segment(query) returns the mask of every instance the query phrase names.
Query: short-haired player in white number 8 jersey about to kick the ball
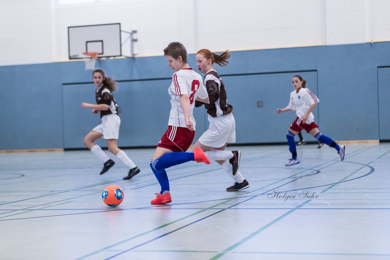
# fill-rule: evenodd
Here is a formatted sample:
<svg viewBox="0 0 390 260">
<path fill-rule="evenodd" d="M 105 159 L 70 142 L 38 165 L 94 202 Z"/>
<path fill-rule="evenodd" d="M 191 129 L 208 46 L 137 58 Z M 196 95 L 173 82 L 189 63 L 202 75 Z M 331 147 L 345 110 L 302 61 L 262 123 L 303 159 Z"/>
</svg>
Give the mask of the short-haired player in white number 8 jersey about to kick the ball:
<svg viewBox="0 0 390 260">
<path fill-rule="evenodd" d="M 210 164 L 202 149 L 185 152 L 195 135 L 195 119 L 192 115 L 195 100 L 209 103 L 207 91 L 202 84 L 202 76 L 193 71 L 187 63 L 187 50 L 180 42 L 171 42 L 164 49 L 168 66 L 174 71 L 168 88 L 171 97 L 168 129 L 161 137 L 151 160 L 150 167 L 156 176 L 161 191 L 156 193 L 152 204 L 172 202 L 166 168 L 188 161 Z"/>
</svg>

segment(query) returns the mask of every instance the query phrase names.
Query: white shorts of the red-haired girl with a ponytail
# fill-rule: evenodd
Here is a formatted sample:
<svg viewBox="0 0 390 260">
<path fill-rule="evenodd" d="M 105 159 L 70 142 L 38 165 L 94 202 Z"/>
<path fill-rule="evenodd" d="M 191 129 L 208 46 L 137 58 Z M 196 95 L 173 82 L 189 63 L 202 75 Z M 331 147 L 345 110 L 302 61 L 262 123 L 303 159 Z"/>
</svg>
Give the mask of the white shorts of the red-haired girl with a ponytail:
<svg viewBox="0 0 390 260">
<path fill-rule="evenodd" d="M 232 113 L 219 115 L 218 117 L 208 117 L 210 126 L 200 136 L 199 141 L 208 147 L 220 148 L 225 143 L 236 142 L 236 121 Z"/>
</svg>

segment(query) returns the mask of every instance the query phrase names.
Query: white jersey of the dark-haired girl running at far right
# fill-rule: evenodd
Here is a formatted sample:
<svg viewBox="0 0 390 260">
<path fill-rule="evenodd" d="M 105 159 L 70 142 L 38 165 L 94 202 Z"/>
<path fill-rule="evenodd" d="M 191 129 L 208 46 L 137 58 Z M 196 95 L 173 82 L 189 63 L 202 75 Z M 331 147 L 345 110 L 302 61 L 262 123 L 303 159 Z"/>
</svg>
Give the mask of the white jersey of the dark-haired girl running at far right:
<svg viewBox="0 0 390 260">
<path fill-rule="evenodd" d="M 306 114 L 311 104 L 316 104 L 319 102 L 319 99 L 314 95 L 308 88 L 300 88 L 298 93 L 296 90 L 290 94 L 290 103 L 287 108 L 296 111 L 296 116 L 300 119 Z M 307 117 L 306 124 L 311 124 L 314 122 L 314 115 L 310 112 Z"/>
</svg>

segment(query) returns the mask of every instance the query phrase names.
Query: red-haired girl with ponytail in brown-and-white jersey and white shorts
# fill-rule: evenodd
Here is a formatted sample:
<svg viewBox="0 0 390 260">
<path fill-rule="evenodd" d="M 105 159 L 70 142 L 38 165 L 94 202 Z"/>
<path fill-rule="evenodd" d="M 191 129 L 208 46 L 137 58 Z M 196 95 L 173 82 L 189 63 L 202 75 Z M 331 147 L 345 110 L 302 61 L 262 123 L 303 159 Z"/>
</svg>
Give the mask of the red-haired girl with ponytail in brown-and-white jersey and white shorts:
<svg viewBox="0 0 390 260">
<path fill-rule="evenodd" d="M 226 66 L 230 53 L 225 51 L 221 55 L 215 54 L 207 49 L 197 52 L 196 62 L 198 69 L 204 73 L 204 86 L 209 95 L 209 104 L 196 101 L 195 106 L 204 104 L 207 109 L 209 129 L 200 136 L 194 147 L 200 147 L 206 156 L 220 164 L 236 182 L 228 187 L 227 191 L 239 191 L 249 187 L 238 170 L 241 157 L 240 151 L 225 151 L 227 143 L 236 142 L 236 121 L 231 113 L 233 107 L 227 104 L 225 85 L 218 73 L 214 70 L 214 63 Z"/>
</svg>

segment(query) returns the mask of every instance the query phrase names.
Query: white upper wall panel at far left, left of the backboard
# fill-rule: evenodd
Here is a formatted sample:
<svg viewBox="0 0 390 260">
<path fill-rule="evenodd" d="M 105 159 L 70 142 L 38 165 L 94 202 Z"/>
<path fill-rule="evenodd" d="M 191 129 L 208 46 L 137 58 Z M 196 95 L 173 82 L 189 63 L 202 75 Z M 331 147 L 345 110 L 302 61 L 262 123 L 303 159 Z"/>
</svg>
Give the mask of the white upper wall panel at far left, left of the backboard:
<svg viewBox="0 0 390 260">
<path fill-rule="evenodd" d="M 53 62 L 51 1 L 1 1 L 0 65 Z"/>
</svg>

